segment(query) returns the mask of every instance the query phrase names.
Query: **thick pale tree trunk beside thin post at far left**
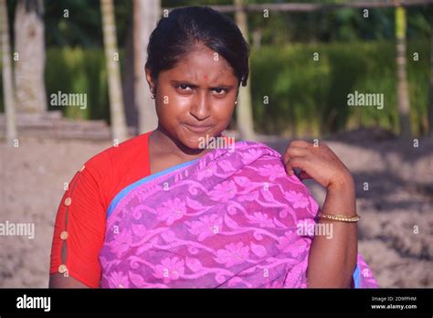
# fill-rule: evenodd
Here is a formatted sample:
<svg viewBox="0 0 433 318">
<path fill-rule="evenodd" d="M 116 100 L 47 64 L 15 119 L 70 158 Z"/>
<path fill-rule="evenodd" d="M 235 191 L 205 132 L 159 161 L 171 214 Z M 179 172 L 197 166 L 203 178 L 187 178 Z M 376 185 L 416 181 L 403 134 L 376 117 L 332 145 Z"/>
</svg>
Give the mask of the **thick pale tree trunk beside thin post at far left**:
<svg viewBox="0 0 433 318">
<path fill-rule="evenodd" d="M 45 91 L 44 1 L 19 0 L 15 17 L 16 110 L 47 111 Z"/>
</svg>

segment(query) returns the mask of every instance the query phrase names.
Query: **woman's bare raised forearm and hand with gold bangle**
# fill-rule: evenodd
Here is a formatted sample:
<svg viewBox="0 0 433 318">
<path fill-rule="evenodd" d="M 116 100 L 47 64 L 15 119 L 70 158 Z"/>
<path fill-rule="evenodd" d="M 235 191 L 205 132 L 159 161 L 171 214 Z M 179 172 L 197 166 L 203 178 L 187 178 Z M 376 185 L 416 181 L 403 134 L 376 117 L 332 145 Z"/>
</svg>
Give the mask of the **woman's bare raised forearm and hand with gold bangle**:
<svg viewBox="0 0 433 318">
<path fill-rule="evenodd" d="M 284 161 L 289 175 L 293 174 L 292 168 L 301 168 L 301 179 L 312 178 L 326 188 L 322 213 L 356 215 L 354 179 L 327 145 L 292 142 Z M 321 218 L 318 226 L 330 227 L 331 236 L 316 235 L 312 241 L 307 287 L 349 288 L 356 267 L 356 223 Z"/>
</svg>

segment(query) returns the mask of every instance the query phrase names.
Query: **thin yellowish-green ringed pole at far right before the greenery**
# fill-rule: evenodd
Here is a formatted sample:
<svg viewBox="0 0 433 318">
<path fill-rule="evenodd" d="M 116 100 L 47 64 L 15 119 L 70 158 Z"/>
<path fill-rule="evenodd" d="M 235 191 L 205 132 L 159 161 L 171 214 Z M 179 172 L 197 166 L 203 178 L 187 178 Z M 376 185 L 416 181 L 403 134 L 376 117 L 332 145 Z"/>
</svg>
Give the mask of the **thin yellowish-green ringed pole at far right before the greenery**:
<svg viewBox="0 0 433 318">
<path fill-rule="evenodd" d="M 406 9 L 396 7 L 396 71 L 397 103 L 400 117 L 400 136 L 410 138 L 410 104 L 407 87 Z"/>
</svg>

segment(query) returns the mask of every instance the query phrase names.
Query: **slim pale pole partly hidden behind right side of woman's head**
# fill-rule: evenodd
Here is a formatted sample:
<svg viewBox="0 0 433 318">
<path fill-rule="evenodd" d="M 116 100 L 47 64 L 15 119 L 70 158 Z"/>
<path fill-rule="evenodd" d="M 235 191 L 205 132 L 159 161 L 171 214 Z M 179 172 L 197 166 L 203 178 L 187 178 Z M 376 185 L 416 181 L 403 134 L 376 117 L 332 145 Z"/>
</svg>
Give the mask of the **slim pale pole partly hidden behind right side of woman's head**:
<svg viewBox="0 0 433 318">
<path fill-rule="evenodd" d="M 236 11 L 235 20 L 245 40 L 248 41 L 248 20 L 243 8 L 244 0 L 235 0 L 235 6 L 240 9 Z M 249 76 L 246 87 L 239 87 L 238 105 L 236 106 L 238 132 L 244 140 L 254 140 L 254 122 L 251 107 L 251 77 Z"/>
</svg>

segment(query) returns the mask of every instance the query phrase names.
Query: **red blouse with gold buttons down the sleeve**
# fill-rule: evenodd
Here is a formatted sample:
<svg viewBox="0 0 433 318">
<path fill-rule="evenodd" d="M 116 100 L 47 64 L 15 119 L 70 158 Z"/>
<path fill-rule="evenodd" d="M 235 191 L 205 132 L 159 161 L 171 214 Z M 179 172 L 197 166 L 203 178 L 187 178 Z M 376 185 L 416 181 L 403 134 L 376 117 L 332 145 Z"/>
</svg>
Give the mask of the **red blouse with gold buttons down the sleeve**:
<svg viewBox="0 0 433 318">
<path fill-rule="evenodd" d="M 150 134 L 96 154 L 74 175 L 58 206 L 50 274 L 60 272 L 89 287 L 99 287 L 99 253 L 107 210 L 123 188 L 150 175 Z"/>
</svg>

